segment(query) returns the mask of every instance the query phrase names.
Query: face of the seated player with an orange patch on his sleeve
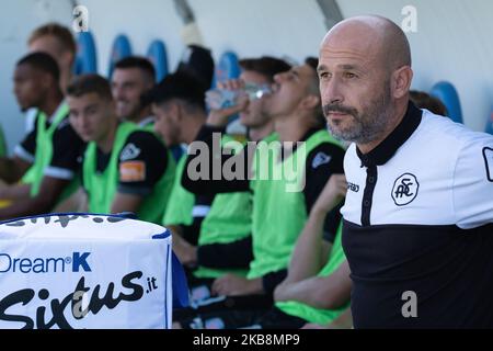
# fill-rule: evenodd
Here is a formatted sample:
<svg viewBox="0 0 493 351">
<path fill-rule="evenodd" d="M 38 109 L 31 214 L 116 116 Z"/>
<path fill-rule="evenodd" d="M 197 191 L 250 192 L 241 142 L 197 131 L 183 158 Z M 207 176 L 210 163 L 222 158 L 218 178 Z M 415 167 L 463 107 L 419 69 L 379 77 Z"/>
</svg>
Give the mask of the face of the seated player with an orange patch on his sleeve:
<svg viewBox="0 0 493 351">
<path fill-rule="evenodd" d="M 70 107 L 70 124 L 84 141 L 104 140 L 115 118 L 113 101 L 94 92 L 81 97 L 67 98 Z"/>
</svg>

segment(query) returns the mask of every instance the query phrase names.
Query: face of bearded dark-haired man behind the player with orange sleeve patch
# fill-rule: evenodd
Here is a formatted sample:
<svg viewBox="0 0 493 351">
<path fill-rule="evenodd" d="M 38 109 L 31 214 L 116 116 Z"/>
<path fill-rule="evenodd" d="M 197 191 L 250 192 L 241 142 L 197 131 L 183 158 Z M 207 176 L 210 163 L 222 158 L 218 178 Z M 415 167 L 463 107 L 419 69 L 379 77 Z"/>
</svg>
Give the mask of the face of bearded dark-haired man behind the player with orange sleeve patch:
<svg viewBox="0 0 493 351">
<path fill-rule="evenodd" d="M 116 115 L 121 120 L 135 121 L 141 112 L 140 97 L 152 84 L 139 68 L 115 69 L 112 77 L 112 93 L 116 102 Z"/>
</svg>

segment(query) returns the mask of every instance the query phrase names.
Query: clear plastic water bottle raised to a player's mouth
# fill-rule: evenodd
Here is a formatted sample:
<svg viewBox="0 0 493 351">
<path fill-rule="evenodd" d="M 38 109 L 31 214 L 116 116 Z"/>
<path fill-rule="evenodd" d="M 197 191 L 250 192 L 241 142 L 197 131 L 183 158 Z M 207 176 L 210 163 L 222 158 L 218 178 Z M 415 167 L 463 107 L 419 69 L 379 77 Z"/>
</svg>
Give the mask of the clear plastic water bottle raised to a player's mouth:
<svg viewBox="0 0 493 351">
<path fill-rule="evenodd" d="M 250 101 L 262 99 L 265 94 L 272 93 L 271 86 L 245 83 L 240 90 L 213 89 L 206 92 L 206 103 L 210 110 L 222 110 L 234 106 L 241 94 L 246 93 Z"/>
</svg>

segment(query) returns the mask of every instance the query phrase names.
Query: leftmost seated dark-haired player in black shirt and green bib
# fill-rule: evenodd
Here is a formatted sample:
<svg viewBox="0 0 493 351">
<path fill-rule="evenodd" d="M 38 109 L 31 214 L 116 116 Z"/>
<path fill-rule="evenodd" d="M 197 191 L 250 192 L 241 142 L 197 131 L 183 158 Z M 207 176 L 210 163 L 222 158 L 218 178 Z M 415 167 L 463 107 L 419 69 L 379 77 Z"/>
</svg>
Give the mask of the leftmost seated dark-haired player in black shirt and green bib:
<svg viewBox="0 0 493 351">
<path fill-rule="evenodd" d="M 0 158 L 0 199 L 9 200 L 0 219 L 48 213 L 76 188 L 77 159 L 83 141 L 68 123 L 68 106 L 51 56 L 33 53 L 19 60 L 14 93 L 23 111 L 37 111 L 34 129 L 15 147 L 13 158 Z"/>
</svg>

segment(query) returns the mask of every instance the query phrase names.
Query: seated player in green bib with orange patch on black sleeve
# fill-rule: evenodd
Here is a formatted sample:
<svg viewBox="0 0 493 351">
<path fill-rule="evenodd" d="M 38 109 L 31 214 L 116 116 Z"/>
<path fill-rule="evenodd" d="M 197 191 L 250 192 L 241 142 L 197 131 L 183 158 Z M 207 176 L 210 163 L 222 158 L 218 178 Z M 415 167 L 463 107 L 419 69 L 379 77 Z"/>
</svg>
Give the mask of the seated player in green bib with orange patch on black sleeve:
<svg viewBox="0 0 493 351">
<path fill-rule="evenodd" d="M 91 213 L 136 213 L 160 224 L 174 179 L 175 163 L 153 133 L 121 123 L 106 79 L 81 76 L 67 89 L 70 123 L 88 141 L 82 185 Z"/>
</svg>

